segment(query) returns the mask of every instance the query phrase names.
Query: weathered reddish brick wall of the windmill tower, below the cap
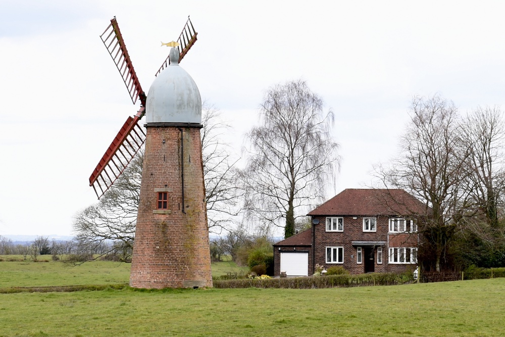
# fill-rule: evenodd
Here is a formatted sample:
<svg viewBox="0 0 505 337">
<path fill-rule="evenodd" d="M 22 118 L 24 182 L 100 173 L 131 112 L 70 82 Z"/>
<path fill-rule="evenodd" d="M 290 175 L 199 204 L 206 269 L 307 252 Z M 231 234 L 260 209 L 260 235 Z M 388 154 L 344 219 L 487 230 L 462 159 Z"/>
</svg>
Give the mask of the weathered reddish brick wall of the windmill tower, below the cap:
<svg viewBox="0 0 505 337">
<path fill-rule="evenodd" d="M 212 286 L 200 130 L 147 126 L 130 286 Z M 156 214 L 157 192 L 168 191 L 168 210 Z M 160 213 L 160 212 L 158 212 Z M 163 213 L 163 212 L 162 212 Z"/>
</svg>

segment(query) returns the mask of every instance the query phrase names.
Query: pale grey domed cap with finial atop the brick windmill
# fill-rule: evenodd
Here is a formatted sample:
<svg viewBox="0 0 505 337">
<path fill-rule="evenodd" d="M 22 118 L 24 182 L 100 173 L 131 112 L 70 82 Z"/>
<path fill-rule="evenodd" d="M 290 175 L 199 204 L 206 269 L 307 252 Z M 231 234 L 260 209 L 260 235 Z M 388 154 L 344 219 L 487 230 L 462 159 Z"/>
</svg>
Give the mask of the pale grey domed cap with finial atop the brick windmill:
<svg viewBox="0 0 505 337">
<path fill-rule="evenodd" d="M 201 124 L 200 91 L 191 76 L 179 67 L 179 50 L 170 50 L 170 65 L 154 80 L 147 92 L 146 123 Z"/>
</svg>

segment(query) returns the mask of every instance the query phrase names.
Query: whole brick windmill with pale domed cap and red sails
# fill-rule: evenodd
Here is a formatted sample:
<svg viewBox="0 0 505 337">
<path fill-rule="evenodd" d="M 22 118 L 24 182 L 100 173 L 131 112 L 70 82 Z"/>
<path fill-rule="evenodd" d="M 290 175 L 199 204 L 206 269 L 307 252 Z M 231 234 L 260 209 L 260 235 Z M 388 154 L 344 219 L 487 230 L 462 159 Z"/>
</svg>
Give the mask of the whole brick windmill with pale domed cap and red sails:
<svg viewBox="0 0 505 337">
<path fill-rule="evenodd" d="M 132 101 L 141 101 L 139 112 L 129 117 L 90 177 L 99 198 L 145 141 L 130 286 L 212 286 L 200 141 L 201 99 L 195 82 L 179 66 L 196 41 L 196 32 L 188 19 L 177 42 L 166 43 L 172 49 L 147 96 L 115 18 L 102 40 L 109 45 Z M 116 46 L 111 49 L 114 41 Z M 138 126 L 144 113 L 146 133 Z"/>
</svg>

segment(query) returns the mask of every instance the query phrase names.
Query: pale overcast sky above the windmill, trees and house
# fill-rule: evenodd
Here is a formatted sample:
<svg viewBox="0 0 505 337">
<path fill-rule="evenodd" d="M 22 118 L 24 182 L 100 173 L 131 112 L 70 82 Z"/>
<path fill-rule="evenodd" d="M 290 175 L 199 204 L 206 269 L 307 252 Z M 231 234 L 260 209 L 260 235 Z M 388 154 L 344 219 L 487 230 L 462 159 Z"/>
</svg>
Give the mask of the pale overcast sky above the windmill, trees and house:
<svg viewBox="0 0 505 337">
<path fill-rule="evenodd" d="M 415 94 L 461 112 L 504 106 L 503 2 L 0 0 L 0 235 L 72 234 L 96 202 L 88 177 L 128 115 L 100 41 L 117 16 L 147 92 L 191 15 L 198 41 L 181 65 L 242 134 L 263 92 L 303 78 L 335 113 L 336 190 L 370 183 L 396 153 Z"/>
</svg>

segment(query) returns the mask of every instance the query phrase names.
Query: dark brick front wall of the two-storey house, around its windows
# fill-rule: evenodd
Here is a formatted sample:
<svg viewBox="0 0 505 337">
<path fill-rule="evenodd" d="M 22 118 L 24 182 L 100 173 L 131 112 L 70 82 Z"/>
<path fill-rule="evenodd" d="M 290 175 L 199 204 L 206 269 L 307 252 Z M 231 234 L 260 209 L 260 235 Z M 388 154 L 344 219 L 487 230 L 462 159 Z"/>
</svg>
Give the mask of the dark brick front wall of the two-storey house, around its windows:
<svg viewBox="0 0 505 337">
<path fill-rule="evenodd" d="M 414 234 L 388 234 L 389 217 L 376 216 L 377 231 L 363 231 L 363 216 L 344 216 L 343 217 L 343 232 L 327 232 L 326 231 L 326 216 L 314 216 L 314 219 L 319 220 L 319 224 L 315 225 L 315 242 L 314 254 L 316 264 L 324 265 L 325 268 L 331 266 L 342 266 L 351 274 L 360 274 L 365 272 L 365 247 L 362 247 L 362 263 L 357 263 L 357 247 L 352 246 L 352 241 L 382 241 L 385 245 L 382 246 L 382 264 L 377 263 L 377 247 L 374 247 L 374 271 L 375 272 L 402 272 L 415 268 L 412 264 L 389 264 L 388 263 L 388 245 L 391 243 L 400 246 L 389 247 L 416 247 L 412 246 L 417 242 L 417 236 Z M 326 263 L 326 247 L 343 247 L 344 259 L 343 264 Z"/>
</svg>

